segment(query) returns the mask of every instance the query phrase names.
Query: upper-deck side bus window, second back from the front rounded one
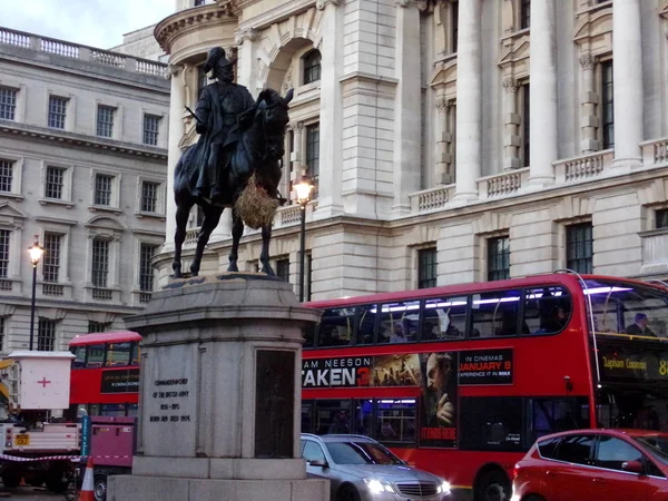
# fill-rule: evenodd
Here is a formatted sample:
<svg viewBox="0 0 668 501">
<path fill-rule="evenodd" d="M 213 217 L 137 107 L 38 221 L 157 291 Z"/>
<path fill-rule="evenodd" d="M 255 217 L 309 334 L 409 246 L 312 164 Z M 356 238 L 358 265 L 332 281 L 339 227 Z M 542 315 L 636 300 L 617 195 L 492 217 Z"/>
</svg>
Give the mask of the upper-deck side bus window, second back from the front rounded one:
<svg viewBox="0 0 668 501">
<path fill-rule="evenodd" d="M 514 336 L 519 332 L 520 291 L 474 294 L 471 337 Z M 524 331 L 522 328 L 522 331 Z"/>
</svg>

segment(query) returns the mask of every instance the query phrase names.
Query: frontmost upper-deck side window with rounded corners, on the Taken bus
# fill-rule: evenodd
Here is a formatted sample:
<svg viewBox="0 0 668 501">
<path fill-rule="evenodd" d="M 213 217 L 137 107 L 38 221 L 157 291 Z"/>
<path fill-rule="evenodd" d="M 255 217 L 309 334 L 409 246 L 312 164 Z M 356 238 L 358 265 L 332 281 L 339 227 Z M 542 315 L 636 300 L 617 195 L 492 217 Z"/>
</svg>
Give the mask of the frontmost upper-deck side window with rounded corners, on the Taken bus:
<svg viewBox="0 0 668 501">
<path fill-rule="evenodd" d="M 563 287 L 530 288 L 524 297 L 524 324 L 531 334 L 553 334 L 566 327 L 571 308 Z"/>
</svg>

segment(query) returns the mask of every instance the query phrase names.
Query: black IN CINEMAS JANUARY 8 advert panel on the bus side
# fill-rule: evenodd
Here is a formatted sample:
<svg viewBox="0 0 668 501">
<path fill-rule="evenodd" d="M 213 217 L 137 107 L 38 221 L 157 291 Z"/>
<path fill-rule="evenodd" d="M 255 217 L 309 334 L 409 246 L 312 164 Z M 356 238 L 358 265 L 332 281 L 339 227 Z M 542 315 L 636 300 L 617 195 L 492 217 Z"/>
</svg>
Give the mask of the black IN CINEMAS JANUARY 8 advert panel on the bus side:
<svg viewBox="0 0 668 501">
<path fill-rule="evenodd" d="M 512 384 L 512 348 L 460 353 L 460 386 Z"/>
</svg>

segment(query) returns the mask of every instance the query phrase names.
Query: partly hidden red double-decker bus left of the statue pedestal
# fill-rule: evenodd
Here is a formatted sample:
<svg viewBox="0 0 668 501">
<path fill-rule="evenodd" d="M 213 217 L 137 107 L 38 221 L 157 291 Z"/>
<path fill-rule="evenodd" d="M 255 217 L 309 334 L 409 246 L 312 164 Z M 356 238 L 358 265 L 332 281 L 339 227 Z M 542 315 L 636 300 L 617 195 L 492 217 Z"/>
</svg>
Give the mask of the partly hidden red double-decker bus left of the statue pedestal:
<svg viewBox="0 0 668 501">
<path fill-rule="evenodd" d="M 139 342 L 136 332 L 76 336 L 70 380 L 70 418 L 136 416 L 139 397 Z"/>
</svg>

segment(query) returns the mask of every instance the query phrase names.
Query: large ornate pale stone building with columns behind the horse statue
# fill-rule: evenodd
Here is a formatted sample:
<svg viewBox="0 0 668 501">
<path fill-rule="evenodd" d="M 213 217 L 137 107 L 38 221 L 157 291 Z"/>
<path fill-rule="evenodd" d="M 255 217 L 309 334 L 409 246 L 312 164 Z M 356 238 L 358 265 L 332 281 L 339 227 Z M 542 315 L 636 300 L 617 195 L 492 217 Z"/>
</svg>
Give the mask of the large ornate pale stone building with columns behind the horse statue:
<svg viewBox="0 0 668 501">
<path fill-rule="evenodd" d="M 155 33 L 170 57 L 168 179 L 197 137 L 183 109 L 208 48 L 236 52 L 255 96 L 295 89 L 283 188 L 316 180 L 307 298 L 564 267 L 668 276 L 666 0 L 177 0 Z M 293 284 L 298 222 L 279 208 L 271 249 Z M 255 271 L 246 232 L 239 264 Z M 163 284 L 173 234 L 168 204 Z M 227 216 L 203 273 L 229 244 Z"/>
</svg>

